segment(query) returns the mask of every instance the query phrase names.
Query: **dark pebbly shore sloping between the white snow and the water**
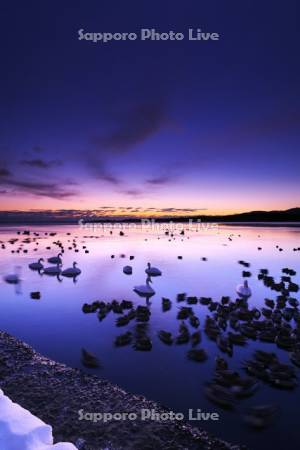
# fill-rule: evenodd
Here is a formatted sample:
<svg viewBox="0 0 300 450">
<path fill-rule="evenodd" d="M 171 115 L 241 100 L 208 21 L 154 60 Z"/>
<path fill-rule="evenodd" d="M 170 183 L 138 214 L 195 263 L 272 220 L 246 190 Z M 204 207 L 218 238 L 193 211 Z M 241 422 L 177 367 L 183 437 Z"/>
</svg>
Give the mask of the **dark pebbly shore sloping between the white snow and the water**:
<svg viewBox="0 0 300 450">
<path fill-rule="evenodd" d="M 103 380 L 46 358 L 0 331 L 0 389 L 53 427 L 55 442 L 80 450 L 242 450 L 188 423 L 174 421 L 80 421 L 78 411 L 138 413 L 170 410 Z"/>
</svg>

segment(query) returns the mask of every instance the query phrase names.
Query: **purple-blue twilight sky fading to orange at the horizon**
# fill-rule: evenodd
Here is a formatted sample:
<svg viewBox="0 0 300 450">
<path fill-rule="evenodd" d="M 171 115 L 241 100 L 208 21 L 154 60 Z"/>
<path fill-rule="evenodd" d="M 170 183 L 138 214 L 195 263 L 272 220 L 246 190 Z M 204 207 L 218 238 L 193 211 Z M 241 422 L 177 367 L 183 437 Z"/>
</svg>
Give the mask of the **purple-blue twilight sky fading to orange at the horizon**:
<svg viewBox="0 0 300 450">
<path fill-rule="evenodd" d="M 0 210 L 299 206 L 297 1 L 2 2 Z M 78 39 L 182 32 L 181 41 Z M 189 41 L 188 29 L 218 33 Z"/>
</svg>

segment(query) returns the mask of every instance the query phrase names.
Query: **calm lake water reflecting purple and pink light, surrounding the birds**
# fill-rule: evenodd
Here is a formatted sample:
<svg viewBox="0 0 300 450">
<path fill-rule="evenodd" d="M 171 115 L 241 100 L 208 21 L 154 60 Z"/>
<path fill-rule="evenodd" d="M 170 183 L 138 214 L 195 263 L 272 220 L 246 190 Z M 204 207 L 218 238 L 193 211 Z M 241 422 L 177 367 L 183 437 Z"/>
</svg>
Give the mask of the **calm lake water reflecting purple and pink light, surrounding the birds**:
<svg viewBox="0 0 300 450">
<path fill-rule="evenodd" d="M 285 266 L 297 270 L 300 252 L 293 252 L 293 248 L 300 246 L 300 229 L 222 226 L 198 232 L 186 231 L 185 236 L 175 232 L 173 239 L 165 236 L 163 230 L 127 230 L 125 236 L 119 236 L 118 232 L 111 235 L 107 230 L 93 232 L 81 230 L 78 226 L 31 226 L 31 232 L 40 233 L 39 237 L 33 242 L 31 233 L 32 242 L 24 243 L 22 247 L 28 249 L 28 253 L 21 251 L 13 254 L 11 250 L 16 250 L 19 243 L 28 238 L 17 235 L 17 231 L 22 229 L 0 228 L 1 241 L 6 243 L 10 238 L 19 239 L 15 244 L 6 243 L 6 248 L 0 249 L 1 279 L 3 275 L 13 272 L 15 266 L 22 266 L 22 283 L 17 289 L 4 282 L 0 284 L 0 329 L 24 340 L 42 354 L 73 367 L 82 367 L 80 349 L 85 347 L 99 357 L 103 366 L 92 370 L 93 373 L 130 392 L 157 400 L 172 410 L 185 414 L 188 408 L 219 412 L 218 422 L 193 422 L 193 425 L 203 426 L 221 438 L 247 444 L 251 449 L 265 449 L 268 445 L 275 449 L 299 448 L 299 388 L 289 392 L 261 385 L 256 395 L 239 402 L 236 412 L 226 412 L 211 404 L 203 392 L 204 384 L 211 380 L 214 373 L 214 357 L 220 354 L 215 343 L 207 340 L 202 333 L 201 347 L 208 351 L 209 358 L 197 364 L 186 358 L 189 345 L 166 346 L 157 338 L 157 331 L 164 329 L 178 334 L 176 295 L 179 292 L 211 296 L 214 300 L 219 300 L 223 295 L 235 298 L 235 286 L 241 281 L 243 270 L 237 263 L 240 259 L 251 263 L 249 270 L 253 276 L 249 283 L 253 295 L 249 302 L 263 305 L 263 299 L 272 297 L 272 294 L 257 281 L 257 272 L 260 268 L 268 268 L 271 275 L 280 277 Z M 45 232 L 56 232 L 57 235 L 49 237 Z M 231 234 L 230 241 L 228 237 Z M 72 243 L 68 240 L 72 241 L 75 236 L 78 237 L 78 253 L 68 250 Z M 82 270 L 77 283 L 67 278 L 59 282 L 28 268 L 28 263 L 39 257 L 56 255 L 58 251 L 53 241 L 57 239 L 65 244 L 64 267 L 77 261 Z M 89 250 L 88 254 L 82 250 L 83 245 Z M 283 251 L 279 252 L 276 245 Z M 48 246 L 51 250 L 46 250 Z M 258 246 L 262 247 L 262 251 L 257 250 Z M 34 251 L 34 248 L 38 250 Z M 111 254 L 116 257 L 111 259 Z M 126 258 L 121 258 L 121 254 L 125 254 Z M 129 262 L 129 255 L 134 255 L 135 259 Z M 182 255 L 182 260 L 177 258 L 178 255 Z M 202 261 L 202 257 L 206 257 L 207 261 Z M 144 284 L 148 261 L 163 272 L 162 277 L 153 278 L 152 285 L 156 291 L 151 298 L 149 323 L 153 349 L 151 352 L 137 352 L 130 346 L 115 348 L 115 337 L 131 329 L 133 322 L 128 327 L 116 327 L 117 315 L 113 313 L 99 322 L 96 314 L 84 314 L 82 305 L 94 300 L 113 299 L 145 304 L 145 299 L 138 297 L 133 287 Z M 122 272 L 126 264 L 133 267 L 131 276 Z M 294 281 L 300 282 L 298 274 Z M 41 299 L 32 300 L 32 291 L 40 291 Z M 171 311 L 162 312 L 162 296 L 172 300 Z M 193 309 L 203 328 L 207 308 L 198 304 L 193 305 Z M 287 352 L 278 350 L 274 345 L 248 341 L 245 347 L 234 347 L 234 356 L 229 359 L 230 368 L 242 373 L 242 361 L 257 348 L 276 349 L 280 359 L 288 362 Z M 270 428 L 255 432 L 243 424 L 240 412 L 248 406 L 269 402 L 280 405 L 280 417 Z"/>
</svg>

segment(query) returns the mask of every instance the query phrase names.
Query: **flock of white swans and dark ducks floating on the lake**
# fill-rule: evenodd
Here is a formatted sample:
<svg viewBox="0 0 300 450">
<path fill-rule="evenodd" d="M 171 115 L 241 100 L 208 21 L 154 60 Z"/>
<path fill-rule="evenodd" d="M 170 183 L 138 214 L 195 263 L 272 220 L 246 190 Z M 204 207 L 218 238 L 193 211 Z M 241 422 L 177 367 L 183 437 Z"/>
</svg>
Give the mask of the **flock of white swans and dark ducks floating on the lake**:
<svg viewBox="0 0 300 450">
<path fill-rule="evenodd" d="M 121 235 L 121 232 L 120 232 Z M 233 235 L 228 238 L 230 241 Z M 14 241 L 15 242 L 15 241 Z M 64 276 L 76 279 L 81 274 L 76 262 L 72 267 L 63 269 L 64 249 L 60 241 L 53 242 L 58 245 L 61 252 L 57 256 L 47 259 L 50 265 L 44 265 L 44 259 L 31 262 L 28 267 L 32 271 L 40 274 Z M 3 248 L 2 244 L 2 248 Z M 73 239 L 72 246 L 76 252 L 77 244 Z M 83 247 L 85 249 L 85 247 Z M 278 251 L 283 251 L 276 246 Z M 261 247 L 258 247 L 261 250 Z M 293 251 L 299 251 L 294 248 Z M 85 249 L 86 252 L 88 252 Z M 24 250 L 25 252 L 25 250 Z M 125 255 L 121 255 L 124 257 Z M 111 258 L 114 258 L 111 255 Z M 133 259 L 134 256 L 130 256 Z M 182 256 L 178 256 L 182 259 Z M 206 261 L 206 258 L 202 258 Z M 250 263 L 239 261 L 245 269 L 250 267 Z M 10 284 L 18 284 L 21 280 L 20 267 L 16 268 L 14 274 L 4 276 L 4 280 Z M 130 265 L 123 267 L 123 273 L 131 275 L 133 268 Z M 127 329 L 123 334 L 115 338 L 115 346 L 122 347 L 132 345 L 137 351 L 151 351 L 153 347 L 152 337 L 149 334 L 149 322 L 151 319 L 151 309 L 148 299 L 155 295 L 152 284 L 153 277 L 162 276 L 162 270 L 147 264 L 145 268 L 146 282 L 142 285 L 134 286 L 133 290 L 140 297 L 147 299 L 146 305 L 135 305 L 132 301 L 122 300 L 111 302 L 95 301 L 91 304 L 85 303 L 82 307 L 84 313 L 97 313 L 99 321 L 104 320 L 108 314 L 113 313 L 117 327 L 130 327 L 135 323 L 134 329 Z M 219 301 L 214 301 L 210 297 L 187 296 L 184 293 L 177 295 L 177 320 L 179 327 L 177 334 L 168 330 L 159 330 L 157 338 L 165 345 L 190 344 L 187 351 L 189 360 L 201 363 L 209 358 L 205 348 L 201 348 L 202 332 L 208 339 L 214 341 L 218 350 L 224 354 L 215 358 L 215 373 L 213 379 L 205 386 L 207 398 L 221 408 L 236 409 L 241 399 L 254 395 L 262 383 L 266 383 L 277 389 L 294 389 L 297 386 L 296 367 L 300 367 L 300 310 L 299 302 L 293 293 L 299 291 L 299 286 L 293 281 L 296 272 L 290 268 L 283 268 L 280 281 L 276 281 L 270 276 L 267 269 L 261 269 L 258 273 L 258 280 L 269 288 L 276 297 L 265 298 L 265 306 L 251 307 L 249 298 L 252 295 L 248 279 L 251 273 L 243 270 L 243 282 L 236 286 L 238 294 L 236 299 L 223 296 Z M 37 297 L 38 298 L 38 297 Z M 185 304 L 184 304 L 185 303 Z M 182 304 L 184 304 L 182 306 Z M 200 318 L 194 307 L 206 307 L 206 315 L 201 329 Z M 162 298 L 163 313 L 170 311 L 172 301 L 169 298 Z M 290 364 L 285 364 L 279 360 L 274 351 L 256 350 L 252 359 L 244 361 L 241 368 L 247 372 L 247 376 L 240 375 L 239 372 L 229 368 L 228 358 L 233 356 L 235 347 L 244 346 L 249 341 L 260 341 L 276 345 L 278 348 L 288 352 Z M 227 359 L 226 359 L 227 358 Z M 81 361 L 86 367 L 99 367 L 97 356 L 82 349 Z M 256 428 L 263 428 L 275 417 L 278 408 L 274 405 L 260 405 L 250 408 L 244 419 Z"/>
</svg>

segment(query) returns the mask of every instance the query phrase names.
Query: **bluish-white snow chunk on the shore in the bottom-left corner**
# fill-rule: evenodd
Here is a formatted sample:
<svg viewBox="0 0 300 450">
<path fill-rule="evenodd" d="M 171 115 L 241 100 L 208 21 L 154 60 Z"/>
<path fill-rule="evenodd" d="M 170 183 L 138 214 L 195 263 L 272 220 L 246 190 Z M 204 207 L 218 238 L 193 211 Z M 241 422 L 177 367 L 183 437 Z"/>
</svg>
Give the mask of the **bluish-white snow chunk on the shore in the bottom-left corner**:
<svg viewBox="0 0 300 450">
<path fill-rule="evenodd" d="M 1 450 L 76 450 L 69 442 L 53 444 L 52 427 L 13 403 L 0 389 Z"/>
</svg>

